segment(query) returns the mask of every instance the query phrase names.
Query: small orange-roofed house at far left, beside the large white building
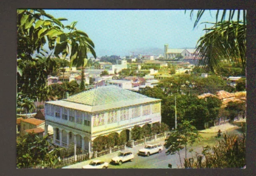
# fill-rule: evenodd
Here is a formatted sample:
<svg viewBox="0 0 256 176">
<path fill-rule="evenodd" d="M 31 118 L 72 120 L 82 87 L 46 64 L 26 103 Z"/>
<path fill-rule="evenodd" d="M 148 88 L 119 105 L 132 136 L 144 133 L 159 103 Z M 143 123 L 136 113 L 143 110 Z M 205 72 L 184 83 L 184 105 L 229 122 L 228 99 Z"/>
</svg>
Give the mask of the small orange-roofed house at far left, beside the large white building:
<svg viewBox="0 0 256 176">
<path fill-rule="evenodd" d="M 34 131 L 40 137 L 43 136 L 44 133 L 44 120 L 36 119 L 34 117 L 28 119 L 21 119 L 20 120 L 20 135 L 26 135 Z"/>
</svg>

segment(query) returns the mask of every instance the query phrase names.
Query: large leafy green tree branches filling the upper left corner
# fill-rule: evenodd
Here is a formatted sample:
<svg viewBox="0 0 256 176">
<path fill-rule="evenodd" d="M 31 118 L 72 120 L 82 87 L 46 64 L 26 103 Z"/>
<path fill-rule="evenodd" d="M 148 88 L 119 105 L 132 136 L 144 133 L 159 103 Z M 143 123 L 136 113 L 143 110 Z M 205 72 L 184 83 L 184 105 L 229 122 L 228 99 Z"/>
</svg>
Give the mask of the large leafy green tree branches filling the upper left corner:
<svg viewBox="0 0 256 176">
<path fill-rule="evenodd" d="M 94 43 L 76 29 L 77 22 L 64 26 L 63 20 L 67 19 L 54 18 L 44 10 L 17 10 L 17 87 L 30 99 L 46 99 L 47 75 L 57 66 L 52 55 L 69 55 L 71 66 L 85 65 L 87 53 L 96 57 Z"/>
</svg>

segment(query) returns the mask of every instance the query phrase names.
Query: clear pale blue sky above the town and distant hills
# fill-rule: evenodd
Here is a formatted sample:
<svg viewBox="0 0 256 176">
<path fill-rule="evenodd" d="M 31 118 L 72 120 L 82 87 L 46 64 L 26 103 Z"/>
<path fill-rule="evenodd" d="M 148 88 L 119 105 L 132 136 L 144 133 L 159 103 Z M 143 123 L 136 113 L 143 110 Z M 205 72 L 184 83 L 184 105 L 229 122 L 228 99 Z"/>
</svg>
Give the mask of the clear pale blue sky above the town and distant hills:
<svg viewBox="0 0 256 176">
<path fill-rule="evenodd" d="M 195 48 L 205 33 L 204 24 L 193 28 L 196 14 L 191 20 L 190 11 L 184 14 L 184 10 L 45 11 L 55 18 L 67 18 L 62 21 L 64 25 L 78 21 L 76 28 L 92 39 L 98 57 L 125 56 L 138 49 L 164 50 L 164 44 L 169 48 Z M 211 14 L 207 11 L 201 22 L 215 22 L 216 12 Z"/>
</svg>

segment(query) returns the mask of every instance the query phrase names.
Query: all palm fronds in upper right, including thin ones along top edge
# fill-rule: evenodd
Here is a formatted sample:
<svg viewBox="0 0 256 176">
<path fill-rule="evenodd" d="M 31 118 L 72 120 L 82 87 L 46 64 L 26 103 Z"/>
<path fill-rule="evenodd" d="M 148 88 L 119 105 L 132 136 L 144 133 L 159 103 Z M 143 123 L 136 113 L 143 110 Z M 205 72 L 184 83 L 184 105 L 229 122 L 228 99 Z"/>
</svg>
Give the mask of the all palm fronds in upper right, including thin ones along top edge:
<svg viewBox="0 0 256 176">
<path fill-rule="evenodd" d="M 197 10 L 194 28 L 199 24 L 204 13 L 205 10 Z M 193 14 L 194 10 L 191 10 L 191 19 Z M 226 20 L 226 14 L 228 14 L 228 20 Z M 244 74 L 246 69 L 246 10 L 223 10 L 222 14 L 220 10 L 217 10 L 216 22 L 210 24 L 214 24 L 213 27 L 205 27 L 206 34 L 197 43 L 199 44 L 197 53 L 202 65 L 216 72 L 218 64 L 226 59 L 240 63 Z"/>
</svg>

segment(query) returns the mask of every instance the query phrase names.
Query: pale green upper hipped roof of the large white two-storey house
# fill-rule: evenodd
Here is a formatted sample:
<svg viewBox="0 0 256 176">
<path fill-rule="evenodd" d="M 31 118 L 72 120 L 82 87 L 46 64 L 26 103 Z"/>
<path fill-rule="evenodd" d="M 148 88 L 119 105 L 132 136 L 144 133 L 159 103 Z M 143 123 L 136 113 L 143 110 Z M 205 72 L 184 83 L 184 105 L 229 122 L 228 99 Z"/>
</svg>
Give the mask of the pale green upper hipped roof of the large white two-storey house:
<svg viewBox="0 0 256 176">
<path fill-rule="evenodd" d="M 102 86 L 70 96 L 64 101 L 88 106 L 107 105 L 117 102 L 148 99 L 147 96 L 119 88 L 118 86 Z M 140 101 L 139 101 L 140 102 Z"/>
</svg>

